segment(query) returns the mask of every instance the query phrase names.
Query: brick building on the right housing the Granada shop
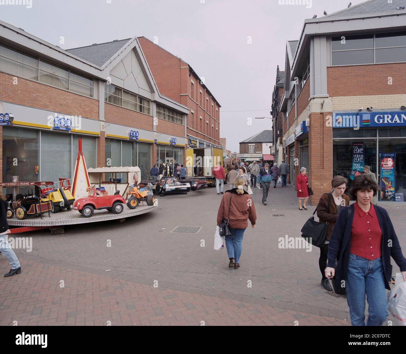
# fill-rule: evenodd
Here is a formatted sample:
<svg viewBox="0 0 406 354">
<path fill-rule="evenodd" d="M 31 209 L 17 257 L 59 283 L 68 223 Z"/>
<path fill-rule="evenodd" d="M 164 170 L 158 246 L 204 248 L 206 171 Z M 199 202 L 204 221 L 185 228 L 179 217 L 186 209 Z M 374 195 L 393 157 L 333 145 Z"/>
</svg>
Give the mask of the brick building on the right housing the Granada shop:
<svg viewBox="0 0 406 354">
<path fill-rule="evenodd" d="M 292 182 L 307 168 L 317 203 L 334 175 L 368 165 L 380 203 L 406 198 L 406 9 L 369 0 L 306 19 L 286 47 L 283 153 Z M 277 112 L 277 111 L 275 111 Z"/>
</svg>

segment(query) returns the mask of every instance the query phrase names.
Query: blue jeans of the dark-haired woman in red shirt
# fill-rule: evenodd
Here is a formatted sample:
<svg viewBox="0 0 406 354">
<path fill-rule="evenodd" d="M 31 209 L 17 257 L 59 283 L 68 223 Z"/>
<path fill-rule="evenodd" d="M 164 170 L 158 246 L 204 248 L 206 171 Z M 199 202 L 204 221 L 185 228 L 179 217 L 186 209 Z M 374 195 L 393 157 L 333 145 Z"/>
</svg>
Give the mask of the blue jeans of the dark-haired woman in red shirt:
<svg viewBox="0 0 406 354">
<path fill-rule="evenodd" d="M 346 290 L 351 325 L 365 326 L 366 294 L 367 326 L 381 326 L 388 316 L 382 257 L 370 261 L 350 253 Z"/>
</svg>

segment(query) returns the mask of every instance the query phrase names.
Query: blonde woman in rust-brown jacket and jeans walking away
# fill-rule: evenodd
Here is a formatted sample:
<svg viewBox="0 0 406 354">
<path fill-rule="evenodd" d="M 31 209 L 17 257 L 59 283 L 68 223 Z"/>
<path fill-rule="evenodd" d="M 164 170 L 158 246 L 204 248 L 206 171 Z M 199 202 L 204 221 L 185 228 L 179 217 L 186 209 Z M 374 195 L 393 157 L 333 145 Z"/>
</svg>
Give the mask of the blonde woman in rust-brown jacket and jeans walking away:
<svg viewBox="0 0 406 354">
<path fill-rule="evenodd" d="M 251 221 L 252 228 L 255 227 L 257 220 L 254 202 L 243 186 L 244 179 L 236 177 L 234 188 L 225 191 L 217 213 L 218 226 L 223 220 L 229 220 L 231 235 L 226 236 L 225 239 L 227 254 L 230 259 L 229 268 L 234 265 L 234 269 L 240 267 L 242 237 L 248 227 L 248 219 Z"/>
</svg>

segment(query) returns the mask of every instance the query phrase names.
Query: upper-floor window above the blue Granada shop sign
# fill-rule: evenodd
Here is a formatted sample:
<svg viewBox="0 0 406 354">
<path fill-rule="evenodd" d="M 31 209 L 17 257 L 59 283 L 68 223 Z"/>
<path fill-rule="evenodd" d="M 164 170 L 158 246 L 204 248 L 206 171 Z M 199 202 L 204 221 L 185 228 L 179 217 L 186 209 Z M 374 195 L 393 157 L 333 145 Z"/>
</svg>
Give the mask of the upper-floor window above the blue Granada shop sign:
<svg viewBox="0 0 406 354">
<path fill-rule="evenodd" d="M 357 65 L 406 61 L 406 32 L 331 38 L 331 64 Z"/>
</svg>

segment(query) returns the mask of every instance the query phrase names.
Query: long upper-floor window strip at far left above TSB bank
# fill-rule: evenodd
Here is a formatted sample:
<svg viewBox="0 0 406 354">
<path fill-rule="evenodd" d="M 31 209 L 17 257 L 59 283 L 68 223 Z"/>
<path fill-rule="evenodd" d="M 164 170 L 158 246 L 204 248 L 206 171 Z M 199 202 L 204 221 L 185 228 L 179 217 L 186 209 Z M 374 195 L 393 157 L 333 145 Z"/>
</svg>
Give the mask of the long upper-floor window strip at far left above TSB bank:
<svg viewBox="0 0 406 354">
<path fill-rule="evenodd" d="M 1 43 L 0 70 L 93 97 L 93 80 L 91 78 Z"/>
</svg>

